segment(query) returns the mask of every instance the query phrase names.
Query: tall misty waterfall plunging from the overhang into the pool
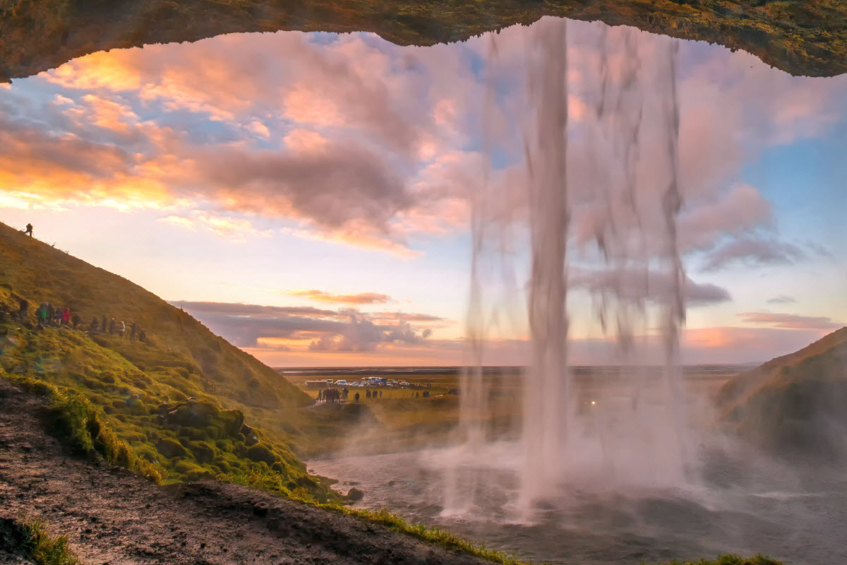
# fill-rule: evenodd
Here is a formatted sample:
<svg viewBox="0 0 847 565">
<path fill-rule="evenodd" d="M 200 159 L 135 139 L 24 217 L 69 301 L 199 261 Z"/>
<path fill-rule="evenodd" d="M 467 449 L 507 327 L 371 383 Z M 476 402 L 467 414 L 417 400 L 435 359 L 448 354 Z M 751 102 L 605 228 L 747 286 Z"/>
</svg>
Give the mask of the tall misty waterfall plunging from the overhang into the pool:
<svg viewBox="0 0 847 565">
<path fill-rule="evenodd" d="M 508 224 L 494 217 L 491 199 L 503 195 L 490 187 L 490 170 L 473 197 L 468 337 L 475 366 L 462 383 L 462 440 L 466 454 L 479 453 L 486 440 L 480 415 L 490 402 L 481 364 L 486 313 L 497 305 L 484 293 L 480 266 L 492 257 L 518 263 L 488 242 L 502 239 L 504 230 L 507 238 L 527 230 L 521 241 L 529 241 L 528 272 L 514 274 L 520 269 L 512 264 L 513 276 L 527 280 L 531 345 L 516 455 L 523 508 L 561 496 L 562 485 L 575 481 L 678 485 L 691 457 L 679 359 L 686 278 L 677 239 L 677 44 L 631 28 L 592 30 L 594 36 L 579 38 L 591 43 L 584 48 L 568 38 L 565 19 L 542 19 L 531 28 L 527 115 L 511 117 L 523 124 L 525 181 L 511 186 L 510 197 L 525 202 L 526 213 Z M 495 67 L 495 40 L 491 46 L 488 64 Z M 569 80 L 569 70 L 578 80 Z M 495 105 L 494 86 L 488 87 L 486 112 Z M 623 383 L 626 398 L 604 397 L 601 384 L 588 400 L 577 393 L 569 350 L 587 334 L 577 332 L 571 317 L 586 302 L 590 320 L 583 324 L 613 344 L 602 364 L 619 367 L 606 373 Z M 463 490 L 473 493 L 468 474 L 477 472 L 454 467 L 448 482 L 463 480 Z"/>
</svg>

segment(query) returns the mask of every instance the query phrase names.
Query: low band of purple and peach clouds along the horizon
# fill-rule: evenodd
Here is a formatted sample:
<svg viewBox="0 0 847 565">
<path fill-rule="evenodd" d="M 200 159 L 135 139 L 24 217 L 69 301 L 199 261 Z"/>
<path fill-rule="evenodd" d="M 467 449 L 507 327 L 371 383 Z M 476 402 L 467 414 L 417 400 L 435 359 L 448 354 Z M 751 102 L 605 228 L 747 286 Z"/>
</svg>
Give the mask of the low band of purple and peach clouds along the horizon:
<svg viewBox="0 0 847 565">
<path fill-rule="evenodd" d="M 171 303 L 184 307 L 224 339 L 276 366 L 473 363 L 467 341 L 435 337 L 434 330 L 448 320 L 428 314 L 224 302 Z M 683 329 L 683 362 L 761 363 L 797 351 L 844 325 L 828 318 L 785 313 L 742 313 L 739 317 L 753 325 Z M 654 332 L 635 339 L 639 343 L 638 363 L 663 363 L 661 335 Z M 492 337 L 485 339 L 482 346 L 485 364 L 525 365 L 531 358 L 530 344 L 525 339 Z M 617 341 L 610 337 L 573 338 L 569 348 L 571 363 L 577 365 L 633 362 L 632 358 L 620 357 Z"/>
</svg>

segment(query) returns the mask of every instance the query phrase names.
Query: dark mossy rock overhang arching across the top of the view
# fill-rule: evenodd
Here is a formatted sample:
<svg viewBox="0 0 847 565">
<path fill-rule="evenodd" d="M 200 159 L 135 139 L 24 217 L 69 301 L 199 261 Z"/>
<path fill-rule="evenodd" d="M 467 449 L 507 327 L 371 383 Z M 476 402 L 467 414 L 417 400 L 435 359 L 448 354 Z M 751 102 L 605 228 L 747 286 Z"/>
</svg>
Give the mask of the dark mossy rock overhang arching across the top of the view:
<svg viewBox="0 0 847 565">
<path fill-rule="evenodd" d="M 0 80 L 87 53 L 250 31 L 372 31 L 456 42 L 544 15 L 744 49 L 792 75 L 847 72 L 843 0 L 0 0 Z"/>
</svg>

